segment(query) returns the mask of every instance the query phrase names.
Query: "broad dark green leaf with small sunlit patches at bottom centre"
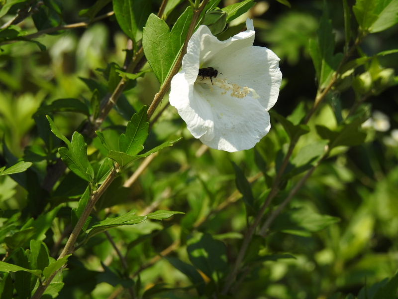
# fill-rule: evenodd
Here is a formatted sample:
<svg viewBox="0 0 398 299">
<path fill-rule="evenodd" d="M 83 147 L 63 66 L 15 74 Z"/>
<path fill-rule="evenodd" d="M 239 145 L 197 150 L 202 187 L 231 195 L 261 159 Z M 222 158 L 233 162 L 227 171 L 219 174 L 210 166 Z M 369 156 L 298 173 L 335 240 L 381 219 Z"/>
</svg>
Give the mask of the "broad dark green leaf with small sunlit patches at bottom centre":
<svg viewBox="0 0 398 299">
<path fill-rule="evenodd" d="M 207 277 L 215 281 L 221 279 L 228 271 L 225 244 L 204 234 L 200 239 L 189 240 L 187 247 L 191 263 Z"/>
</svg>

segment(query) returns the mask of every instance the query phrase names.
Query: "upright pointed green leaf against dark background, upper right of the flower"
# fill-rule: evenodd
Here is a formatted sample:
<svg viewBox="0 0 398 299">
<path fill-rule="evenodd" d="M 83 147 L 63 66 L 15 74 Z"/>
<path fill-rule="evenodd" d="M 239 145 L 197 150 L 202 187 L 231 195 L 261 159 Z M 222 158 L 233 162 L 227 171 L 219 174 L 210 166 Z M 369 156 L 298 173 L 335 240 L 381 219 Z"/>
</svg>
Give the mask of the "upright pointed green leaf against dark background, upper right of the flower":
<svg viewBox="0 0 398 299">
<path fill-rule="evenodd" d="M 327 7 L 324 7 L 324 13 L 317 31 L 317 39 L 309 41 L 309 53 L 315 67 L 319 88 L 324 88 L 329 83 L 334 71 L 337 70 L 343 59 L 343 53 L 333 54 L 334 45 L 332 24 L 327 14 Z"/>
</svg>

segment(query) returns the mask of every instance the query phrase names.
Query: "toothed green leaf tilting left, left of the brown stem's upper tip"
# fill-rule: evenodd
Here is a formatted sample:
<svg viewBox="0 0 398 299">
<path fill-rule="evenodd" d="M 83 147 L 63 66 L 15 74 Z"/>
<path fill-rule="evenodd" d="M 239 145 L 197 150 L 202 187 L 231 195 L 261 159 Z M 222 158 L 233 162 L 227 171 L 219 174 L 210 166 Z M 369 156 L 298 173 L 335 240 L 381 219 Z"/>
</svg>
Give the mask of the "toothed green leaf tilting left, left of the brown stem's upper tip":
<svg viewBox="0 0 398 299">
<path fill-rule="evenodd" d="M 82 134 L 73 133 L 68 149 L 59 148 L 58 152 L 69 169 L 88 182 L 93 182 L 94 169 L 87 156 L 87 144 Z"/>
</svg>

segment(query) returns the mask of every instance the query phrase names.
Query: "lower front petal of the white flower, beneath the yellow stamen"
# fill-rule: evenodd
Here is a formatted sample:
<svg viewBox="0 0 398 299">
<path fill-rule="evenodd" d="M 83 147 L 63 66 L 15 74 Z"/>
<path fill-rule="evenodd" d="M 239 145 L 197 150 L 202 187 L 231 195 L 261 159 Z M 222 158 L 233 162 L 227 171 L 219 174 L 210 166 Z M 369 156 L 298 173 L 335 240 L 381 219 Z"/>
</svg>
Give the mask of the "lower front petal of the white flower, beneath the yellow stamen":
<svg viewBox="0 0 398 299">
<path fill-rule="evenodd" d="M 239 99 L 215 89 L 202 84 L 194 87 L 194 97 L 211 106 L 214 122 L 214 131 L 201 136 L 200 141 L 210 148 L 226 151 L 253 148 L 270 131 L 268 112 L 252 97 Z"/>
</svg>

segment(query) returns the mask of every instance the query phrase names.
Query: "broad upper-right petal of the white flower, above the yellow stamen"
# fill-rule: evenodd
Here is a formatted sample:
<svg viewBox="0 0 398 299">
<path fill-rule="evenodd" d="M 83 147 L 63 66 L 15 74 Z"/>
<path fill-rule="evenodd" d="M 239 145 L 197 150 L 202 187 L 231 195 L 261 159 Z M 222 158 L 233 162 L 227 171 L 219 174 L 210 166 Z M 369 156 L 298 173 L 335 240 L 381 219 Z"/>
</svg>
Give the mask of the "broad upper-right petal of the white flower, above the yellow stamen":
<svg viewBox="0 0 398 299">
<path fill-rule="evenodd" d="M 226 78 L 231 83 L 254 89 L 260 97 L 261 105 L 268 111 L 278 99 L 282 82 L 279 60 L 270 49 L 251 46 L 228 56 L 222 51 L 209 60 L 208 64 L 222 73 L 217 78 Z"/>
</svg>

